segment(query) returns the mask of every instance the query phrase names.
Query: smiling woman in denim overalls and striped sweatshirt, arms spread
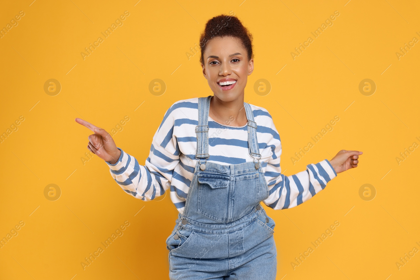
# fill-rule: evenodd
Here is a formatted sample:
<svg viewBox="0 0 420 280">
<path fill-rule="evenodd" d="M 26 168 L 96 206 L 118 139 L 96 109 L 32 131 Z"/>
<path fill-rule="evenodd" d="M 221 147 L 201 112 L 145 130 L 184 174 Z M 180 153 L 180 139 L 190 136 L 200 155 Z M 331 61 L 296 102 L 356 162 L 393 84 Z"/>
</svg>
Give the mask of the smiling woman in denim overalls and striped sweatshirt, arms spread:
<svg viewBox="0 0 420 280">
<path fill-rule="evenodd" d="M 145 165 L 87 121 L 87 148 L 107 162 L 128 194 L 150 201 L 170 189 L 179 211 L 166 239 L 171 279 L 276 278 L 273 209 L 295 207 L 357 167 L 362 152 L 341 150 L 330 161 L 281 174 L 280 136 L 271 115 L 244 102 L 254 69 L 252 36 L 238 18 L 207 21 L 200 36 L 202 73 L 213 96 L 175 102 L 153 136 Z"/>
</svg>

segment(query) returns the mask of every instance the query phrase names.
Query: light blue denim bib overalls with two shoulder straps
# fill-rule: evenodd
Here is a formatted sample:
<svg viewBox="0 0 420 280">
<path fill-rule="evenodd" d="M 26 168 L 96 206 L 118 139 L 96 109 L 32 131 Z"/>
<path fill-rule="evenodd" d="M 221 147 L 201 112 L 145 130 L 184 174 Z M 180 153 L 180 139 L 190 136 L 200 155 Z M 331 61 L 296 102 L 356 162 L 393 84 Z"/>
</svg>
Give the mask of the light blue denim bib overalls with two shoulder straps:
<svg viewBox="0 0 420 280">
<path fill-rule="evenodd" d="M 269 189 L 260 165 L 257 124 L 244 102 L 252 162 L 207 162 L 210 98 L 198 99 L 198 162 L 184 212 L 166 239 L 171 280 L 275 280 L 275 222 L 260 201 Z M 255 159 L 257 158 L 257 161 Z"/>
</svg>

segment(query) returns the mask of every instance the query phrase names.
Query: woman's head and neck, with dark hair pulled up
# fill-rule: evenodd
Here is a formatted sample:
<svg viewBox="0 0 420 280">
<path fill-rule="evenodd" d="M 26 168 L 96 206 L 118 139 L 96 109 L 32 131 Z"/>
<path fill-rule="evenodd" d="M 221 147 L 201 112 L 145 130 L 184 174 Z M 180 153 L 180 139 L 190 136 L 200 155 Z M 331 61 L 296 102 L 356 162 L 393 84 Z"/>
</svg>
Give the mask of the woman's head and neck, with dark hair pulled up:
<svg viewBox="0 0 420 280">
<path fill-rule="evenodd" d="M 210 101 L 210 118 L 224 123 L 230 116 L 234 116 L 232 125 L 243 126 L 247 123 L 245 110 L 241 110 L 244 106 L 244 88 L 247 76 L 254 70 L 252 34 L 239 18 L 233 16 L 229 24 L 218 31 L 217 36 L 209 38 L 211 31 L 225 20 L 226 16 L 219 15 L 207 22 L 200 35 L 200 42 L 207 42 L 201 47 L 200 63 L 203 75 L 214 93 Z"/>
</svg>

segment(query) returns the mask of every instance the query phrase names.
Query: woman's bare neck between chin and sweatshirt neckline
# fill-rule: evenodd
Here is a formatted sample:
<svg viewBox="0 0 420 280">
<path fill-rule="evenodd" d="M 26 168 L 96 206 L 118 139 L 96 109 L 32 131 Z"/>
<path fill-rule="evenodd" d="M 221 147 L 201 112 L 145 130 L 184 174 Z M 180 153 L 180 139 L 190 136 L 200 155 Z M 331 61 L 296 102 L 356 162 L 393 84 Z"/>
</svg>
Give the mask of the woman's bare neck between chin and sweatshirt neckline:
<svg viewBox="0 0 420 280">
<path fill-rule="evenodd" d="M 216 96 L 210 99 L 210 118 L 227 126 L 244 126 L 247 124 L 247 113 L 244 107 L 244 97 L 233 101 L 222 101 Z"/>
</svg>

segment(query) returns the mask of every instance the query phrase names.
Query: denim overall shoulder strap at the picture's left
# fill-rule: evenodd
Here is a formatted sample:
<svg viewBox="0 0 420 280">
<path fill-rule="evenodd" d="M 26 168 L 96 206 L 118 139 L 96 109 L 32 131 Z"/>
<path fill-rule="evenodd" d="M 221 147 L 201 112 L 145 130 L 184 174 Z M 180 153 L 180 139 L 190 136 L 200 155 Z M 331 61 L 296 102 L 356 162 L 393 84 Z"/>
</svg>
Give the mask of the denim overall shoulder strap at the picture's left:
<svg viewBox="0 0 420 280">
<path fill-rule="evenodd" d="M 210 98 L 212 95 L 207 97 L 198 98 L 198 126 L 195 127 L 197 134 L 197 152 L 195 157 L 209 158 L 209 136 L 208 136 L 208 115 L 210 111 Z"/>
</svg>

